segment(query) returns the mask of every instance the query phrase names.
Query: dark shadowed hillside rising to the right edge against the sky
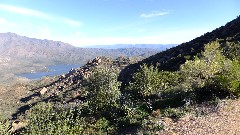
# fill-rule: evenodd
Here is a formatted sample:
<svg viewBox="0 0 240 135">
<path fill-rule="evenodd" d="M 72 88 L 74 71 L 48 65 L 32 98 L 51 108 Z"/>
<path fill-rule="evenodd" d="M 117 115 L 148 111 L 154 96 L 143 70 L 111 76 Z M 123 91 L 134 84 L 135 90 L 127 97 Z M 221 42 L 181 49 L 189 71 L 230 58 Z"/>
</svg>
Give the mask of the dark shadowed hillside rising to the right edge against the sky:
<svg viewBox="0 0 240 135">
<path fill-rule="evenodd" d="M 187 59 L 193 59 L 194 56 L 200 54 L 203 51 L 204 45 L 215 40 L 220 40 L 222 47 L 226 51 L 230 51 L 230 53 L 234 51 L 236 55 L 240 56 L 240 16 L 212 32 L 205 33 L 189 42 L 182 43 L 136 64 L 129 65 L 121 72 L 120 80 L 124 82 L 130 81 L 132 74 L 143 63 L 155 65 L 159 70 L 176 71 Z M 228 54 L 226 54 L 227 57 Z"/>
</svg>

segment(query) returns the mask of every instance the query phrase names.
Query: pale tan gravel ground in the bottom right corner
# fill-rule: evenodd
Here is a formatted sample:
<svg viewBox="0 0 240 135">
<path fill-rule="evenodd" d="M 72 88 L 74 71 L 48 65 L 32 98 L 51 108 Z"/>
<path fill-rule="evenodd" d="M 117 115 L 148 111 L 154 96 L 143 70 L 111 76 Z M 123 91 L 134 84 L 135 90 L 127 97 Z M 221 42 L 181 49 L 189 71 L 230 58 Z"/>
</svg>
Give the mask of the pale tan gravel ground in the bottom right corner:
<svg viewBox="0 0 240 135">
<path fill-rule="evenodd" d="M 178 121 L 165 119 L 168 135 L 240 135 L 240 100 L 226 100 L 207 115 L 187 115 Z"/>
</svg>

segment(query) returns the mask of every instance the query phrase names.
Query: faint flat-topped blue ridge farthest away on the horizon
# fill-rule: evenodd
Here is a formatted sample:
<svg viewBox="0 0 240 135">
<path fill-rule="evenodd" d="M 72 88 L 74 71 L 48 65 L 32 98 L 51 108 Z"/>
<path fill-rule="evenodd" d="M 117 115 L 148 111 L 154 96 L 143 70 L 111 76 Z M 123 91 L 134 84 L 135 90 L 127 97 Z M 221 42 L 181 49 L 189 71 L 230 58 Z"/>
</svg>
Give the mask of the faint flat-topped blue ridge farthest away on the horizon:
<svg viewBox="0 0 240 135">
<path fill-rule="evenodd" d="M 120 49 L 120 48 L 149 48 L 159 51 L 177 46 L 177 44 L 116 44 L 116 45 L 96 45 L 86 46 L 86 48 Z"/>
</svg>

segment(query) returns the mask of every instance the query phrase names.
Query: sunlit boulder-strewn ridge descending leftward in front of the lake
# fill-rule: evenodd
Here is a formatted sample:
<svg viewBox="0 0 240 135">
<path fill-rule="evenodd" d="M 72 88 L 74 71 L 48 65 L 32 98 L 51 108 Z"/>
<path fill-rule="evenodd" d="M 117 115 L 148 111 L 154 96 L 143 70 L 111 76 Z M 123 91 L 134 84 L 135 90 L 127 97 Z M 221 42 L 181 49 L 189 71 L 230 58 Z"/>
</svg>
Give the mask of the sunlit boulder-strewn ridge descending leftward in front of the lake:
<svg viewBox="0 0 240 135">
<path fill-rule="evenodd" d="M 94 69 L 97 67 L 108 67 L 120 71 L 129 64 L 136 63 L 140 59 L 141 57 L 118 57 L 116 59 L 109 57 L 96 57 L 89 60 L 84 66 L 77 69 L 71 69 L 66 74 L 43 78 L 33 84 L 34 87 L 31 90 L 31 95 L 20 99 L 25 105 L 21 106 L 13 116 L 15 117 L 18 114 L 23 113 L 38 102 L 57 101 L 70 104 L 78 103 L 83 100 L 79 99 L 82 94 L 80 88 L 83 85 L 83 80 L 87 79 Z"/>
</svg>

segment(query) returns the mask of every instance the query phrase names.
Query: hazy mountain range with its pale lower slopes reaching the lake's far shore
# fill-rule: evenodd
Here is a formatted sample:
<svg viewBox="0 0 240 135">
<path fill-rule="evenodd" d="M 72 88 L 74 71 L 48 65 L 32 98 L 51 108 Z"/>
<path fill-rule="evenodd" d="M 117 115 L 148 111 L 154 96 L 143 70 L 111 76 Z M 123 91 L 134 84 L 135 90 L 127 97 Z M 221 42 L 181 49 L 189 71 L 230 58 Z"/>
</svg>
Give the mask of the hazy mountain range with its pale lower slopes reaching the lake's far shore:
<svg viewBox="0 0 240 135">
<path fill-rule="evenodd" d="M 2 73 L 41 71 L 47 65 L 85 64 L 97 56 L 146 58 L 157 52 L 143 48 L 80 48 L 60 41 L 0 33 L 0 77 Z"/>
</svg>

